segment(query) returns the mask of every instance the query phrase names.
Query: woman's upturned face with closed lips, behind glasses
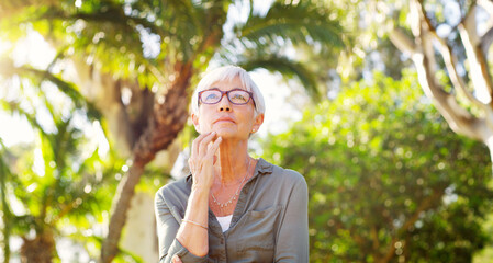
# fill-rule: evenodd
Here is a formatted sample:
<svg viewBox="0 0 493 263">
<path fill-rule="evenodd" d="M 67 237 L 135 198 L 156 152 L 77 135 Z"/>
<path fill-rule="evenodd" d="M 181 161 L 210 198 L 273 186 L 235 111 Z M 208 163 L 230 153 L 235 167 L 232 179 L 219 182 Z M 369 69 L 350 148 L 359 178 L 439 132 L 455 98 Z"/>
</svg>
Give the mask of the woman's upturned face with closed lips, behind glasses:
<svg viewBox="0 0 493 263">
<path fill-rule="evenodd" d="M 237 77 L 231 81 L 214 82 L 209 89 L 221 91 L 247 90 Z M 258 114 L 255 117 L 253 99 L 247 104 L 236 105 L 231 103 L 227 95 L 224 94 L 216 104 L 201 103 L 197 115 L 192 114 L 192 121 L 200 134 L 216 132 L 217 136 L 223 139 L 248 139 L 249 135 L 257 132 L 262 124 L 264 114 Z"/>
</svg>

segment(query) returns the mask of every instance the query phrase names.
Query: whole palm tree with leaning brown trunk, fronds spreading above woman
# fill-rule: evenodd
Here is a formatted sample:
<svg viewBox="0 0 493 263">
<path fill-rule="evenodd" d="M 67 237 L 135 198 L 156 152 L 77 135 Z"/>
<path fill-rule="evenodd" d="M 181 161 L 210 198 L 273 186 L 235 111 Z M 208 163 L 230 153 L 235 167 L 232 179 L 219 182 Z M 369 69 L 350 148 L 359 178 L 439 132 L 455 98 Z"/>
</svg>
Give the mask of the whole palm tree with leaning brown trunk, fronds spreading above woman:
<svg viewBox="0 0 493 263">
<path fill-rule="evenodd" d="M 132 160 L 114 196 L 101 262 L 117 253 L 135 185 L 156 152 L 183 128 L 192 83 L 211 59 L 295 77 L 316 98 L 316 76 L 283 50 L 343 46 L 327 8 L 311 1 L 276 1 L 266 14 L 253 1 L 47 1 L 41 7 L 16 18 L 48 38 L 59 58 L 71 59 L 74 82 L 101 110 Z M 232 7 L 246 10 L 246 20 L 227 19 Z M 225 30 L 232 23 L 233 30 Z M 122 101 L 122 92 L 130 101 Z"/>
</svg>

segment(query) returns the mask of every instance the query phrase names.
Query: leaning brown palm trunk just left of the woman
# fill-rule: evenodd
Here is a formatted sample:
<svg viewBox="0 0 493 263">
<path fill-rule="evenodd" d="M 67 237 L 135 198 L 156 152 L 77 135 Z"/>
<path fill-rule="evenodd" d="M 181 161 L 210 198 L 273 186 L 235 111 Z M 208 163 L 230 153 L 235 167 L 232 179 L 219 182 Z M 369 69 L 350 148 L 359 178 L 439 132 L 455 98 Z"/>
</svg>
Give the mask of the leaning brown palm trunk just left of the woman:
<svg viewBox="0 0 493 263">
<path fill-rule="evenodd" d="M 154 159 L 156 152 L 166 149 L 172 142 L 187 122 L 189 101 L 187 88 L 192 76 L 192 65 L 178 64 L 175 69 L 178 78 L 171 83 L 163 100 L 158 99 L 155 102 L 154 115 L 133 149 L 133 164 L 119 184 L 108 237 L 101 247 L 100 262 L 109 263 L 117 254 L 126 211 L 145 165 Z"/>
</svg>

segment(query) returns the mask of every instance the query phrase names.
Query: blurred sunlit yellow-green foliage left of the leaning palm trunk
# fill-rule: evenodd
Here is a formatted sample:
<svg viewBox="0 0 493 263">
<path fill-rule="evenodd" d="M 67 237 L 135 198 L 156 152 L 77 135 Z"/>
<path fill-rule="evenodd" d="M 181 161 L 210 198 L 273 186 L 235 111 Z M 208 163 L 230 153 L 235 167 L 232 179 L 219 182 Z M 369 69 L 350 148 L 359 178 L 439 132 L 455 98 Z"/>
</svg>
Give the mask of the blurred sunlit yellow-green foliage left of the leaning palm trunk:
<svg viewBox="0 0 493 263">
<path fill-rule="evenodd" d="M 32 232 L 99 245 L 91 241 L 101 235 L 94 226 L 108 220 L 109 193 L 124 163 L 111 151 L 100 156 L 98 142 L 87 136 L 89 127 L 98 126 L 99 113 L 85 111 L 88 104 L 76 90 L 64 90 L 71 85 L 46 75 L 52 82 L 40 81 L 38 71 L 32 71 L 20 89 L 22 101 L 0 101 L 4 112 L 37 130 L 32 144 L 0 148 L 2 247 L 9 254 L 11 237 L 31 239 Z"/>
</svg>

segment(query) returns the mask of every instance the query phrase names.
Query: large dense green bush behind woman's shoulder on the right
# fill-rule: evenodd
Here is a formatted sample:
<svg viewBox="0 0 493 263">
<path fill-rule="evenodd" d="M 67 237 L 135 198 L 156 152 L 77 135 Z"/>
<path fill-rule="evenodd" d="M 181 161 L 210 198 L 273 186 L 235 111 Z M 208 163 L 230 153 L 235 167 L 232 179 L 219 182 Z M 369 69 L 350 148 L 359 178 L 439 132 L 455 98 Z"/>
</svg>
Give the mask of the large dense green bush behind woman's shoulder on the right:
<svg viewBox="0 0 493 263">
<path fill-rule="evenodd" d="M 307 181 L 313 262 L 470 262 L 489 239 L 488 150 L 448 128 L 414 73 L 345 87 L 264 146 Z"/>
</svg>

